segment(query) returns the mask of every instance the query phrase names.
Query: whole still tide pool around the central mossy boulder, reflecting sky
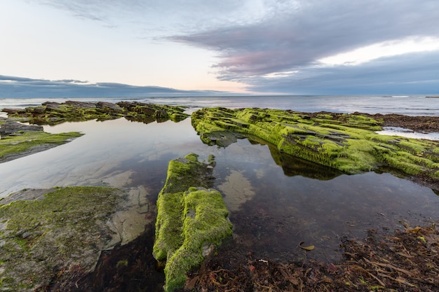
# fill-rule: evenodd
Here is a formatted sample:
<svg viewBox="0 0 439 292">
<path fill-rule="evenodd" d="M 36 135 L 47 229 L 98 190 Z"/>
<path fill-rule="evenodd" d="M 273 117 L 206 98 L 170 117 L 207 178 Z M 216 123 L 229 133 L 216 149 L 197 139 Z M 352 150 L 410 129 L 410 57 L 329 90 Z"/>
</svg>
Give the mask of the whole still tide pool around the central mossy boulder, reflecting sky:
<svg viewBox="0 0 439 292">
<path fill-rule="evenodd" d="M 260 258 L 339 258 L 340 239 L 367 230 L 437 222 L 439 196 L 389 173 L 348 176 L 281 155 L 257 139 L 227 148 L 201 142 L 188 118 L 136 123 L 123 118 L 44 126 L 46 132 L 83 132 L 48 151 L 0 164 L 0 197 L 22 188 L 107 185 L 144 188 L 155 202 L 169 160 L 215 155 L 215 188 L 224 195 L 234 243 Z M 316 249 L 304 253 L 299 242 Z"/>
</svg>

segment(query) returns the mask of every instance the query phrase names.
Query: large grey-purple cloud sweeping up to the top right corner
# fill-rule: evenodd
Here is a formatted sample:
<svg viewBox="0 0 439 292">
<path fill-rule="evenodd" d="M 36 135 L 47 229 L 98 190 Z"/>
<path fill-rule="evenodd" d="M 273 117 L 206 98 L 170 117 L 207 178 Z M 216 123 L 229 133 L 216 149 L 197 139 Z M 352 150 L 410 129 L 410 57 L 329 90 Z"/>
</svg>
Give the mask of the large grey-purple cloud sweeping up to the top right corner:
<svg viewBox="0 0 439 292">
<path fill-rule="evenodd" d="M 412 0 L 318 0 L 295 1 L 294 4 L 290 3 L 291 8 L 282 13 L 276 11 L 271 18 L 251 25 L 230 25 L 168 39 L 216 51 L 219 62 L 213 67 L 219 71 L 218 77 L 250 84 L 253 89 L 261 88 L 252 84 L 260 82 L 262 76 L 282 75 L 285 71 L 300 70 L 304 75 L 325 76 L 328 71 L 331 76 L 346 71 L 360 74 L 366 67 L 337 71 L 319 67 L 318 60 L 375 43 L 439 38 L 436 13 L 439 3 L 435 0 L 422 4 Z M 276 79 L 273 76 L 266 83 L 273 83 Z"/>
</svg>

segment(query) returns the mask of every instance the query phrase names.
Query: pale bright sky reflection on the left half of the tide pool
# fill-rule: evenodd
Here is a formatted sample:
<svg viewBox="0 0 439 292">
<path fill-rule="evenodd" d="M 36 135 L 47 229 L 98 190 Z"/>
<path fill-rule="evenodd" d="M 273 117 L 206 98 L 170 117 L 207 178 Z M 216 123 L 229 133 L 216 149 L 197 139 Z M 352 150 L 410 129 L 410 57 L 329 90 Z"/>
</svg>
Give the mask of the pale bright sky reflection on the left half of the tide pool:
<svg viewBox="0 0 439 292">
<path fill-rule="evenodd" d="M 46 125 L 44 130 L 85 134 L 48 151 L 1 163 L 0 197 L 22 188 L 94 186 L 114 181 L 114 176 L 129 172 L 135 162 L 142 161 L 146 169 L 154 169 L 149 167 L 149 162 L 159 161 L 164 169 L 161 174 L 166 176 L 170 159 L 186 155 L 191 149 L 203 153 L 208 148 L 198 141 L 190 120 L 150 124 L 124 118 L 104 122 L 89 120 L 52 127 Z M 121 184 L 116 183 L 117 186 Z M 126 181 L 126 185 L 129 184 Z"/>
</svg>

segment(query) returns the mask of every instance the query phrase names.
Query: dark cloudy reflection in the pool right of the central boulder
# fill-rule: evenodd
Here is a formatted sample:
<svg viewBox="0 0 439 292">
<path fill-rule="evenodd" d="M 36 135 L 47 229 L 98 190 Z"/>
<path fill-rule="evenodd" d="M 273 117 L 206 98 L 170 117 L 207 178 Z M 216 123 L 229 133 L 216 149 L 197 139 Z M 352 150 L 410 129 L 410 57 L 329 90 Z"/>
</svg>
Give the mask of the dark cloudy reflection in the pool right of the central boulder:
<svg viewBox="0 0 439 292">
<path fill-rule="evenodd" d="M 215 170 L 218 188 L 226 204 L 231 204 L 234 242 L 255 257 L 333 261 L 339 259 L 337 249 L 344 236 L 362 238 L 370 229 L 402 228 L 401 220 L 424 225 L 439 218 L 439 198 L 430 188 L 387 173 L 349 176 L 326 169 L 330 175 L 323 176 L 325 180 L 313 179 L 309 175 L 313 165 L 304 176 L 288 176 L 285 168 L 262 155 L 262 148 L 268 147 L 238 140 L 217 159 Z M 276 152 L 270 151 L 271 155 Z M 252 159 L 243 158 L 244 152 Z M 242 200 L 236 207 L 238 198 Z M 299 249 L 299 242 L 316 249 L 306 253 Z"/>
</svg>

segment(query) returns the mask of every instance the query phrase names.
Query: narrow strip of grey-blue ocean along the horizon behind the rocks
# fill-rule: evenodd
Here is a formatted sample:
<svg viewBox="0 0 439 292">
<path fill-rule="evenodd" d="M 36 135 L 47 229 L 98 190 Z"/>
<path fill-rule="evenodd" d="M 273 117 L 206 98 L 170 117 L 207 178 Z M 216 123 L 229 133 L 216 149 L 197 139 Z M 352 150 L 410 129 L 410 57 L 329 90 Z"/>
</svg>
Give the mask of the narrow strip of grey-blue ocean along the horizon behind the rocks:
<svg viewBox="0 0 439 292">
<path fill-rule="evenodd" d="M 437 95 L 439 96 L 439 95 Z M 121 100 L 154 104 L 188 106 L 188 111 L 202 107 L 224 106 L 231 109 L 259 107 L 293 111 L 336 113 L 399 113 L 407 116 L 439 116 L 439 99 L 426 95 L 282 95 L 282 96 L 210 96 L 210 97 L 90 97 L 90 98 L 20 98 L 0 99 L 0 109 L 38 106 L 46 101 L 119 102 Z"/>
</svg>

